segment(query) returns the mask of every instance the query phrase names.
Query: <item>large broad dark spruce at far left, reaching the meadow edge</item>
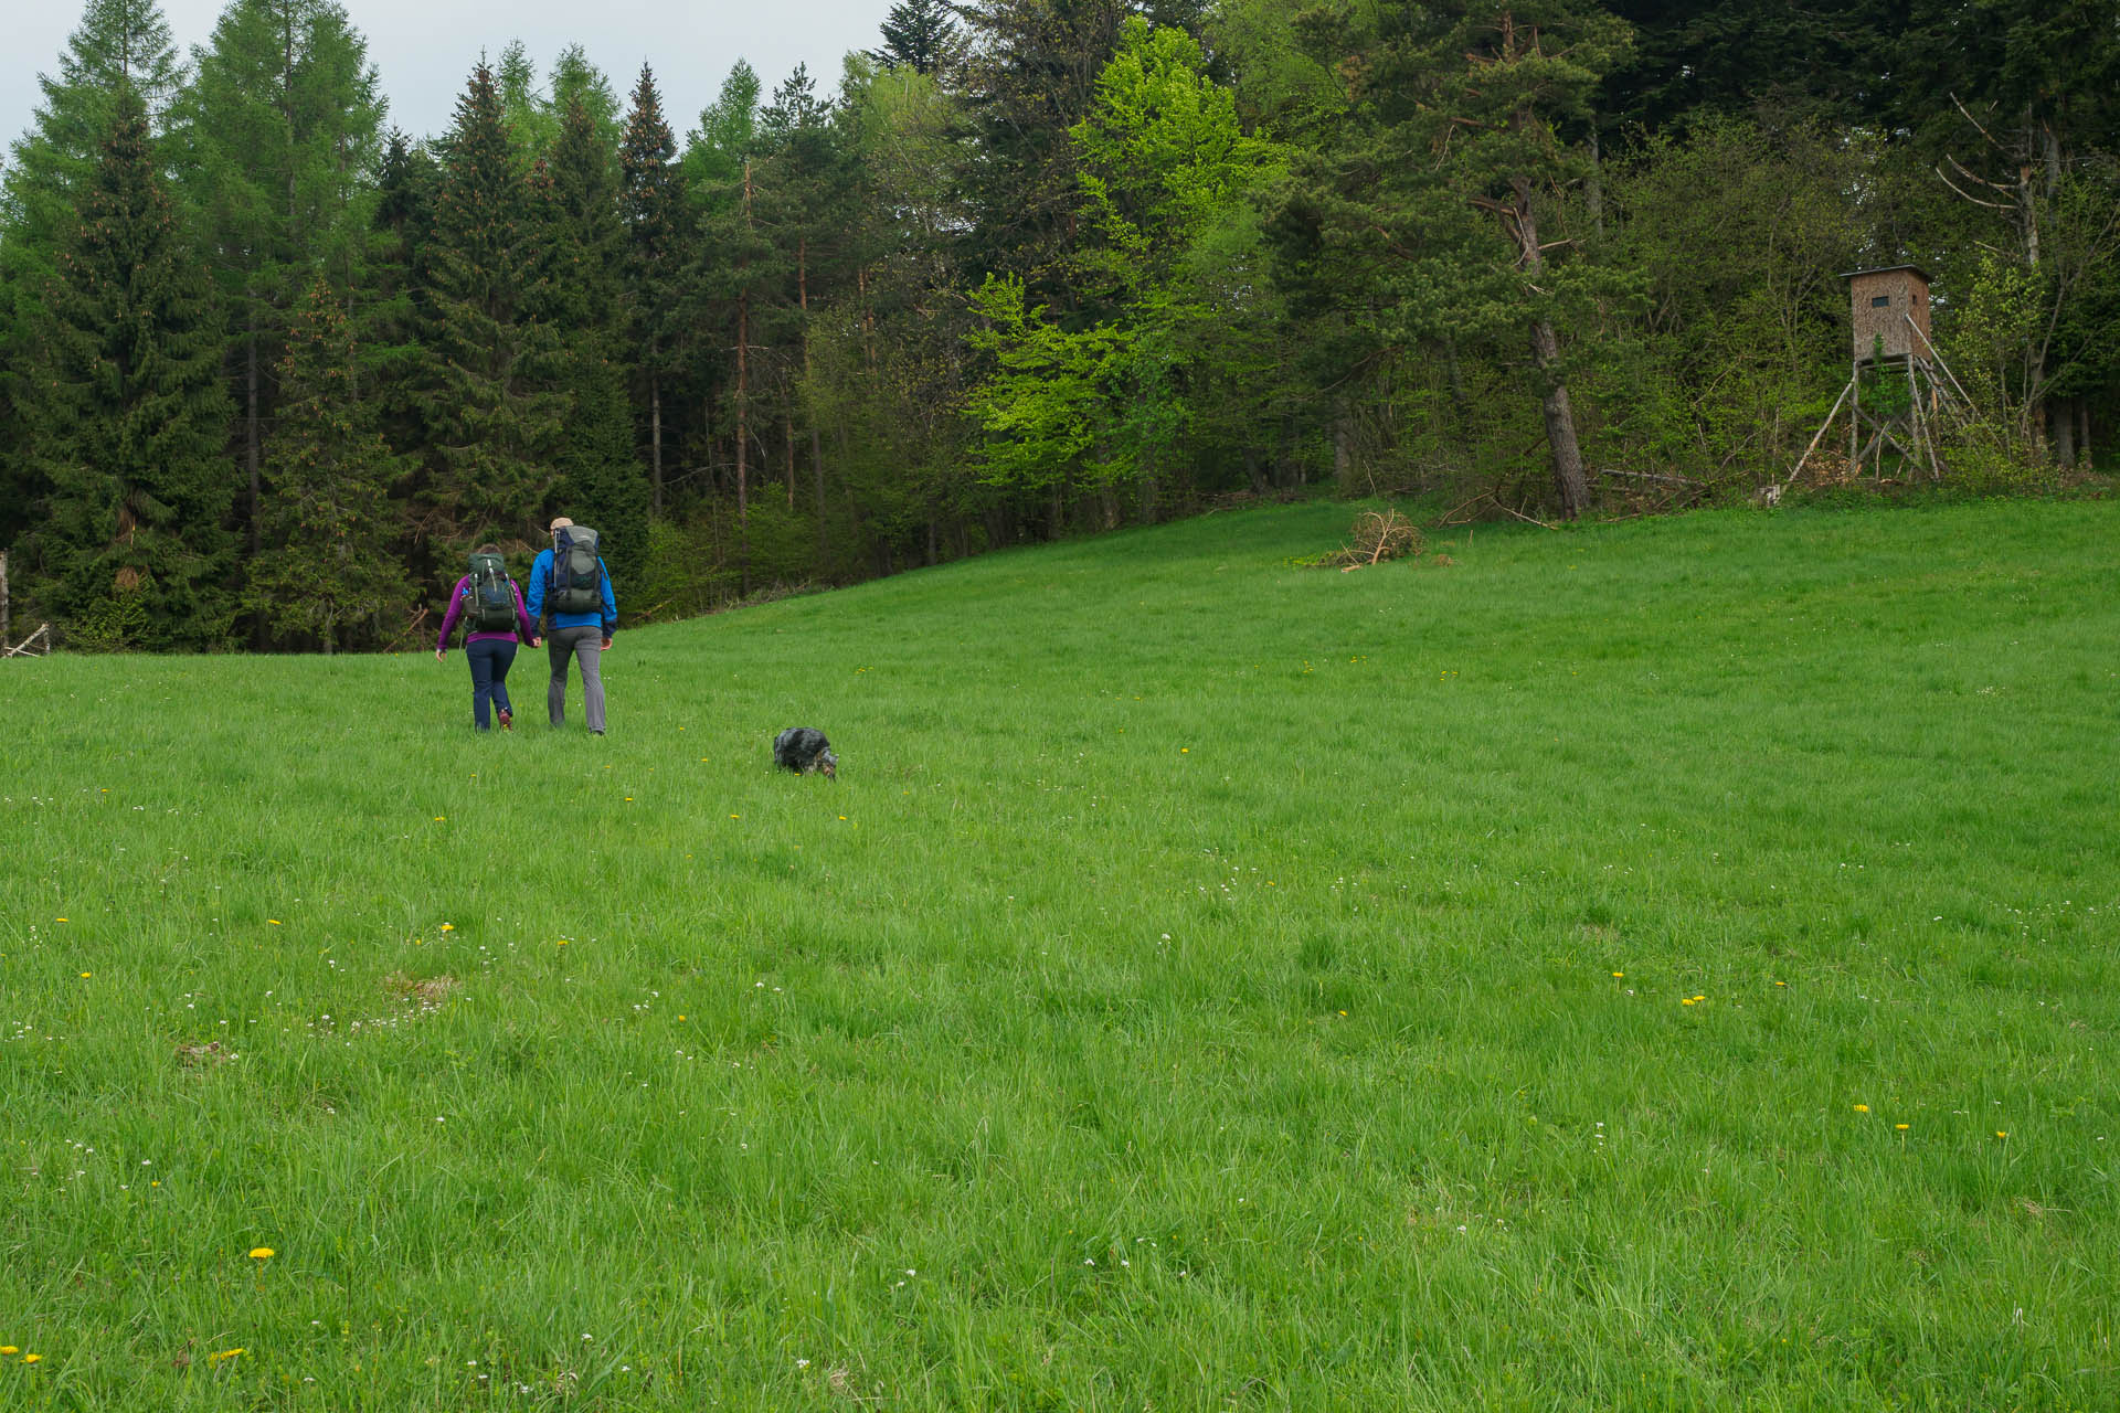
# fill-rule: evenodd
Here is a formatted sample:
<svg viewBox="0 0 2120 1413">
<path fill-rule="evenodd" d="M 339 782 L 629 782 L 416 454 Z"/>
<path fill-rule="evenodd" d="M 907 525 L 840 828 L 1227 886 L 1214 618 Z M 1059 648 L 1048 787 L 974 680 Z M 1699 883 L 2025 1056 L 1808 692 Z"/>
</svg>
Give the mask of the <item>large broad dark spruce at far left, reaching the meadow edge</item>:
<svg viewBox="0 0 2120 1413">
<path fill-rule="evenodd" d="M 51 487 L 32 536 L 36 597 L 76 642 L 225 642 L 235 566 L 220 322 L 129 89 L 45 305 L 21 407 Z"/>
</svg>

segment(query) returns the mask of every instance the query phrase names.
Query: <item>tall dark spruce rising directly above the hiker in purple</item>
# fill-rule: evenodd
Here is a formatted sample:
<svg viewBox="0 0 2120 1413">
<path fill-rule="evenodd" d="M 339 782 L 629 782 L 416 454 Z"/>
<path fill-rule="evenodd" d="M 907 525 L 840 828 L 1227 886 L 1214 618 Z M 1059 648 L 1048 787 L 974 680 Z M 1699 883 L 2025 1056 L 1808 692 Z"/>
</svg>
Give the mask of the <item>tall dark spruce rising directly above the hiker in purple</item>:
<svg viewBox="0 0 2120 1413">
<path fill-rule="evenodd" d="M 549 263 L 532 189 L 485 68 L 456 104 L 426 246 L 432 333 L 426 426 L 439 466 L 426 500 L 445 538 L 534 536 L 553 489 L 566 358 L 541 320 Z"/>
</svg>

